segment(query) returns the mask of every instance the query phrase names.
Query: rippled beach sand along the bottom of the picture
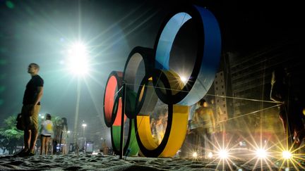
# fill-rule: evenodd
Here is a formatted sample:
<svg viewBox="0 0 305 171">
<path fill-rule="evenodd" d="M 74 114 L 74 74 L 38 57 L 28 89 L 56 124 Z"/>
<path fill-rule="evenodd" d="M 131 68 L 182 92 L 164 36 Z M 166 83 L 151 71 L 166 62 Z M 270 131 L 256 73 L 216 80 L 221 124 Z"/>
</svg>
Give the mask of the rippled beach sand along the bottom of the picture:
<svg viewBox="0 0 305 171">
<path fill-rule="evenodd" d="M 229 164 L 228 164 L 229 163 Z M 273 163 L 273 162 L 272 162 Z M 0 170 L 287 170 L 280 168 L 279 161 L 270 164 L 257 160 L 193 159 L 193 158 L 146 158 L 80 154 L 79 156 L 50 155 L 31 157 L 0 157 Z M 289 170 L 304 170 L 304 167 L 289 167 Z"/>
</svg>

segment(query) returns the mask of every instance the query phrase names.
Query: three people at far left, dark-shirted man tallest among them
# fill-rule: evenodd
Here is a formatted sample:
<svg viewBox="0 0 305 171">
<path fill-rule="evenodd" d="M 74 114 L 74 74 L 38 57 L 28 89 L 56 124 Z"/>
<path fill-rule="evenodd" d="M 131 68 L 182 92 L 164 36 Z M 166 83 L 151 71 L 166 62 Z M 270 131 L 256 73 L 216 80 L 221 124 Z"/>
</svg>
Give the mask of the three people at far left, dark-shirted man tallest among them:
<svg viewBox="0 0 305 171">
<path fill-rule="evenodd" d="M 49 149 L 49 142 L 53 141 L 53 152 L 57 151 L 57 144 L 62 149 L 64 154 L 67 153 L 66 138 L 67 138 L 67 120 L 61 118 L 55 121 L 51 120 L 51 115 L 46 114 L 46 119 L 41 122 L 39 129 L 38 113 L 40 112 L 40 100 L 43 94 L 44 80 L 38 72 L 40 66 L 37 63 L 30 63 L 28 65 L 28 73 L 31 79 L 25 87 L 23 95 L 23 107 L 21 109 L 21 121 L 24 127 L 24 148 L 16 154 L 16 156 L 34 156 L 37 138 L 41 138 L 40 154 L 47 154 Z M 64 144 L 61 146 L 61 144 Z M 55 149 L 55 150 L 54 150 Z"/>
</svg>

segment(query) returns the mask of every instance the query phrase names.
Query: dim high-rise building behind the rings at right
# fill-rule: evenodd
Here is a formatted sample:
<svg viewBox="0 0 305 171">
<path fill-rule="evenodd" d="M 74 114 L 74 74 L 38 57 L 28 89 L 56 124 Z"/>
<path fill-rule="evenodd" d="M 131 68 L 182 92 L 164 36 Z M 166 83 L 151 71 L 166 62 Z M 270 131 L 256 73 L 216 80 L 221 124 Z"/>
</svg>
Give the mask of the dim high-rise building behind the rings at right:
<svg viewBox="0 0 305 171">
<path fill-rule="evenodd" d="M 265 134 L 283 131 L 276 104 L 270 101 L 271 73 L 276 67 L 285 66 L 297 77 L 304 77 L 300 55 L 301 44 L 293 41 L 278 42 L 254 53 L 229 55 L 234 106 L 232 118 L 238 118 L 239 129 L 246 123 L 252 132 L 258 128 L 262 128 Z M 292 84 L 300 88 L 298 81 L 304 83 L 304 79 L 294 79 Z"/>
</svg>

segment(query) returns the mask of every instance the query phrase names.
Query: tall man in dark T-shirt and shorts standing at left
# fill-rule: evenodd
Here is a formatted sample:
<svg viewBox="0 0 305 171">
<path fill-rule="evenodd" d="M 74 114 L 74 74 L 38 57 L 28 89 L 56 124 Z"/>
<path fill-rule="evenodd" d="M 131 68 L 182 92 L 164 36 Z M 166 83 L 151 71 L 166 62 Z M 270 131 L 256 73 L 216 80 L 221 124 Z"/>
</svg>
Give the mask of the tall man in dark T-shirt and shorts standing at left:
<svg viewBox="0 0 305 171">
<path fill-rule="evenodd" d="M 30 63 L 28 73 L 31 79 L 26 85 L 23 96 L 23 107 L 21 115 L 23 118 L 24 129 L 24 148 L 17 156 L 34 156 L 35 144 L 38 136 L 38 113 L 40 111 L 40 99 L 43 93 L 44 81 L 37 73 L 40 66 L 37 63 Z"/>
</svg>

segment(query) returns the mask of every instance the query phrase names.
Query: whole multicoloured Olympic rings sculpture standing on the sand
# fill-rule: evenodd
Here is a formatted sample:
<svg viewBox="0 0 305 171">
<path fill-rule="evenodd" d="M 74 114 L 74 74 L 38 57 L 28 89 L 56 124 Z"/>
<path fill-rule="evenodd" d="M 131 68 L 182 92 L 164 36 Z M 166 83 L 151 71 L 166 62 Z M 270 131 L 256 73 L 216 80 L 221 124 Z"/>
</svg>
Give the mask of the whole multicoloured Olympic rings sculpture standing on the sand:
<svg viewBox="0 0 305 171">
<path fill-rule="evenodd" d="M 162 23 L 154 48 L 136 46 L 128 55 L 124 72 L 109 75 L 104 122 L 111 127 L 114 152 L 119 153 L 124 103 L 128 125 L 124 154 L 129 149 L 129 156 L 138 152 L 147 157 L 174 156 L 186 135 L 189 106 L 202 99 L 213 84 L 220 51 L 220 27 L 213 13 L 201 6 L 174 9 Z M 155 143 L 150 129 L 150 115 L 158 100 L 168 110 L 160 144 Z"/>
</svg>

